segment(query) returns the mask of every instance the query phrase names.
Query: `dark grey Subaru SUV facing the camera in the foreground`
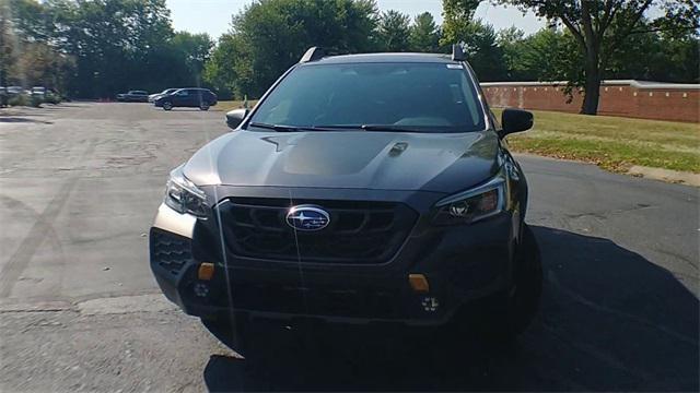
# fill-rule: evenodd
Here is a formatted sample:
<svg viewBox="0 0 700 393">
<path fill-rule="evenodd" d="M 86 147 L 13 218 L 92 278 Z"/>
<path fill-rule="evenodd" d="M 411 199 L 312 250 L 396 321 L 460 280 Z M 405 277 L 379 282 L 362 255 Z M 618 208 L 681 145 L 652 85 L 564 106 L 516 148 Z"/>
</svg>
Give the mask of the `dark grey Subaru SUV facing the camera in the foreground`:
<svg viewBox="0 0 700 393">
<path fill-rule="evenodd" d="M 244 355 L 260 318 L 459 326 L 480 301 L 490 332 L 520 333 L 541 266 L 504 136 L 533 116 L 499 123 L 483 97 L 459 47 L 310 49 L 171 172 L 150 231 L 163 293 Z"/>
</svg>

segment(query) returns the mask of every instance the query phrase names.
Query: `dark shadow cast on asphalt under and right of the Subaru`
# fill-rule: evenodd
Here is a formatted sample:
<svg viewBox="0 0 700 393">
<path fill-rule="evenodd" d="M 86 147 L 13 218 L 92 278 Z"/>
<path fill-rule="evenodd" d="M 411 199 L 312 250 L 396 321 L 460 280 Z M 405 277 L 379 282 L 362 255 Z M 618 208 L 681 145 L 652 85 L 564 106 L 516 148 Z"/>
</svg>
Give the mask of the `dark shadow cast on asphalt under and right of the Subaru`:
<svg viewBox="0 0 700 393">
<path fill-rule="evenodd" d="M 311 340 L 265 343 L 275 360 L 255 371 L 211 356 L 205 382 L 210 391 L 698 391 L 691 291 L 610 240 L 533 229 L 545 289 L 515 344 L 472 332 L 323 327 Z"/>
</svg>

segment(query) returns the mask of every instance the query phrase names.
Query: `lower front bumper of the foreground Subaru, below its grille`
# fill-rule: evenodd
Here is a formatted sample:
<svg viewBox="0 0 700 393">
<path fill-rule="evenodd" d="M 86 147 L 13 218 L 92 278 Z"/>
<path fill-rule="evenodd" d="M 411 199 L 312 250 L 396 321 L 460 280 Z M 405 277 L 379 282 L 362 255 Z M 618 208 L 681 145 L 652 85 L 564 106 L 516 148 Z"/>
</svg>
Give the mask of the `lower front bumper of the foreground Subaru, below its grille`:
<svg viewBox="0 0 700 393">
<path fill-rule="evenodd" d="M 186 313 L 217 318 L 230 312 L 329 322 L 447 322 L 465 303 L 508 289 L 520 217 L 502 213 L 468 226 L 434 227 L 424 217 L 399 251 L 373 265 L 266 261 L 221 252 L 207 225 L 161 205 L 150 234 L 151 269 L 165 296 Z M 200 281 L 201 262 L 215 264 Z M 420 273 L 428 293 L 408 275 Z"/>
</svg>

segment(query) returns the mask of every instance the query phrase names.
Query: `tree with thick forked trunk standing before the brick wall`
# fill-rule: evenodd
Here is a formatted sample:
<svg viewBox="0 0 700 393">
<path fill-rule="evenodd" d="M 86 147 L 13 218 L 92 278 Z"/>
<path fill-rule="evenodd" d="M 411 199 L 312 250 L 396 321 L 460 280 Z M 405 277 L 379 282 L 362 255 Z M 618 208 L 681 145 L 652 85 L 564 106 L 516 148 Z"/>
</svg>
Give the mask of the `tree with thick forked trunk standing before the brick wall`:
<svg viewBox="0 0 700 393">
<path fill-rule="evenodd" d="M 456 0 L 455 0 L 456 1 Z M 643 29 L 682 32 L 699 27 L 698 0 L 499 0 L 533 10 L 538 16 L 562 23 L 584 53 L 585 92 L 581 112 L 595 115 L 598 108 L 603 71 L 611 55 Z M 651 10 L 660 16 L 642 23 Z M 570 81 L 576 84 L 580 81 Z"/>
</svg>

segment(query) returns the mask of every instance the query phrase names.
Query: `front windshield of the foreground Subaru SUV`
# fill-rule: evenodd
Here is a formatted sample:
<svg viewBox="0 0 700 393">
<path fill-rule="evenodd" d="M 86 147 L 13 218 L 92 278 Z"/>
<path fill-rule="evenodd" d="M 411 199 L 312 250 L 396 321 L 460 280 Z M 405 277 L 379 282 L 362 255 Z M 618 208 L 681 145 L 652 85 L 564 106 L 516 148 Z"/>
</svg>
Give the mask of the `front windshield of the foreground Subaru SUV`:
<svg viewBox="0 0 700 393">
<path fill-rule="evenodd" d="M 422 132 L 485 128 L 474 84 L 454 63 L 303 66 L 260 103 L 250 123 Z"/>
</svg>

